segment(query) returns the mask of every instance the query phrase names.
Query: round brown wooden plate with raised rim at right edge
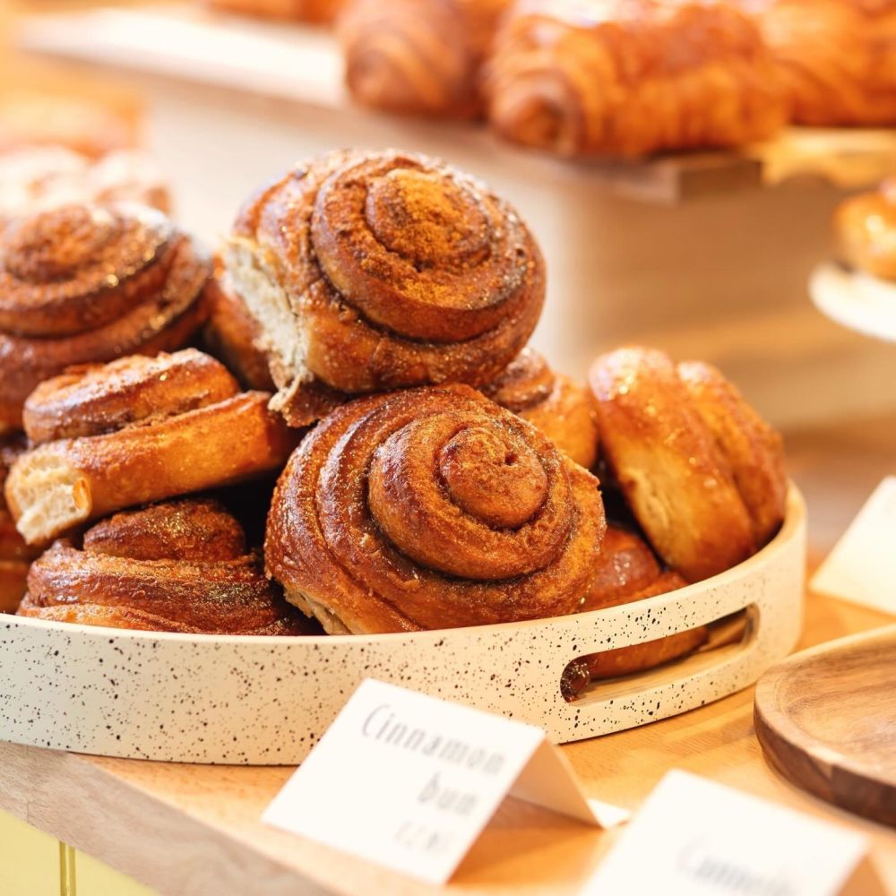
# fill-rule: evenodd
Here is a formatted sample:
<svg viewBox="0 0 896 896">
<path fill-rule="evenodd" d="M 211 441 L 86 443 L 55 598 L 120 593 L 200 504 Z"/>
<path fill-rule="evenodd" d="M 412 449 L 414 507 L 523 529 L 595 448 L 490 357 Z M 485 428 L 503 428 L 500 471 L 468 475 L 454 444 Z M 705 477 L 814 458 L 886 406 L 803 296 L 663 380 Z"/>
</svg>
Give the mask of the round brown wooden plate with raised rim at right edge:
<svg viewBox="0 0 896 896">
<path fill-rule="evenodd" d="M 896 827 L 896 625 L 785 659 L 756 685 L 756 736 L 797 787 Z"/>
</svg>

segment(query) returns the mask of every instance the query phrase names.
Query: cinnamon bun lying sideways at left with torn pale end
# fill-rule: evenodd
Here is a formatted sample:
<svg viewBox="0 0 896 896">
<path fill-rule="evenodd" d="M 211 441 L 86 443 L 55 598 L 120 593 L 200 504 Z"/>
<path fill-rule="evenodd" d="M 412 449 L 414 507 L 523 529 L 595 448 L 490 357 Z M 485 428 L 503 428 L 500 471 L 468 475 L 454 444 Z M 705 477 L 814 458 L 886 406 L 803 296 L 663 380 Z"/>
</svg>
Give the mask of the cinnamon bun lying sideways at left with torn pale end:
<svg viewBox="0 0 896 896">
<path fill-rule="evenodd" d="M 298 434 L 196 349 L 84 366 L 31 393 L 6 500 L 29 544 L 125 507 L 280 470 Z"/>
</svg>

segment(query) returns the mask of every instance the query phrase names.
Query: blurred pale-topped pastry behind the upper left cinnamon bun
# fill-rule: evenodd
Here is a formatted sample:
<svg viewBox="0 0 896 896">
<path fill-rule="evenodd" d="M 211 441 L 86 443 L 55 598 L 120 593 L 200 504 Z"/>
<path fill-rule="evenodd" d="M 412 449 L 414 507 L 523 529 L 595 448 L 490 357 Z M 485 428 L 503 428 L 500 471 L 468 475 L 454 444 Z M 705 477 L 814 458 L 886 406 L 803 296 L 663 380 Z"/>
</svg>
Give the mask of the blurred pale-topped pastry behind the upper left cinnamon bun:
<svg viewBox="0 0 896 896">
<path fill-rule="evenodd" d="M 0 221 L 73 203 L 139 202 L 171 207 L 168 185 L 151 155 L 117 150 L 90 159 L 61 146 L 0 154 Z"/>
</svg>

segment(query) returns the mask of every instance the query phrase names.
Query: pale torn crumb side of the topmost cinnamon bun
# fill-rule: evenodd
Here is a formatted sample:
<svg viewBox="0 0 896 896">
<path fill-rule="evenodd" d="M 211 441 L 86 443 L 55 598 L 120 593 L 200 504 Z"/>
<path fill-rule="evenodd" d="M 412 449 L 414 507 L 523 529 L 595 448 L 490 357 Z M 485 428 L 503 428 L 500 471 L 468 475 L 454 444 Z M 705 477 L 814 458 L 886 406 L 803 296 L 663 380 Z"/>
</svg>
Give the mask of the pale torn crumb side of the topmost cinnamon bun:
<svg viewBox="0 0 896 896">
<path fill-rule="evenodd" d="M 263 334 L 260 348 L 267 354 L 271 376 L 280 389 L 312 379 L 306 367 L 304 328 L 289 304 L 287 290 L 265 263 L 260 246 L 232 237 L 224 250 L 224 264 L 237 295 Z"/>
</svg>

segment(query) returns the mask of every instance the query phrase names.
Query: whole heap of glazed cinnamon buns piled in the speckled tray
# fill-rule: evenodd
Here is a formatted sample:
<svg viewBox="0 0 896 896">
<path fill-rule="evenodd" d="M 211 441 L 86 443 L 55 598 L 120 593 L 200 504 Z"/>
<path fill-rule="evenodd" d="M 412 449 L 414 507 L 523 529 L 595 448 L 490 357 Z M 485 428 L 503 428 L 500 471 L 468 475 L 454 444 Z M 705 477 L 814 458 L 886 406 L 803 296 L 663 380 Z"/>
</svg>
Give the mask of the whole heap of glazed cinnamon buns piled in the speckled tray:
<svg viewBox="0 0 896 896">
<path fill-rule="evenodd" d="M 3 608 L 412 632 L 607 607 L 752 555 L 784 514 L 780 437 L 717 370 L 659 350 L 610 352 L 588 385 L 553 373 L 527 346 L 545 277 L 507 202 L 399 151 L 292 168 L 215 263 L 141 206 L 14 221 Z"/>
</svg>

